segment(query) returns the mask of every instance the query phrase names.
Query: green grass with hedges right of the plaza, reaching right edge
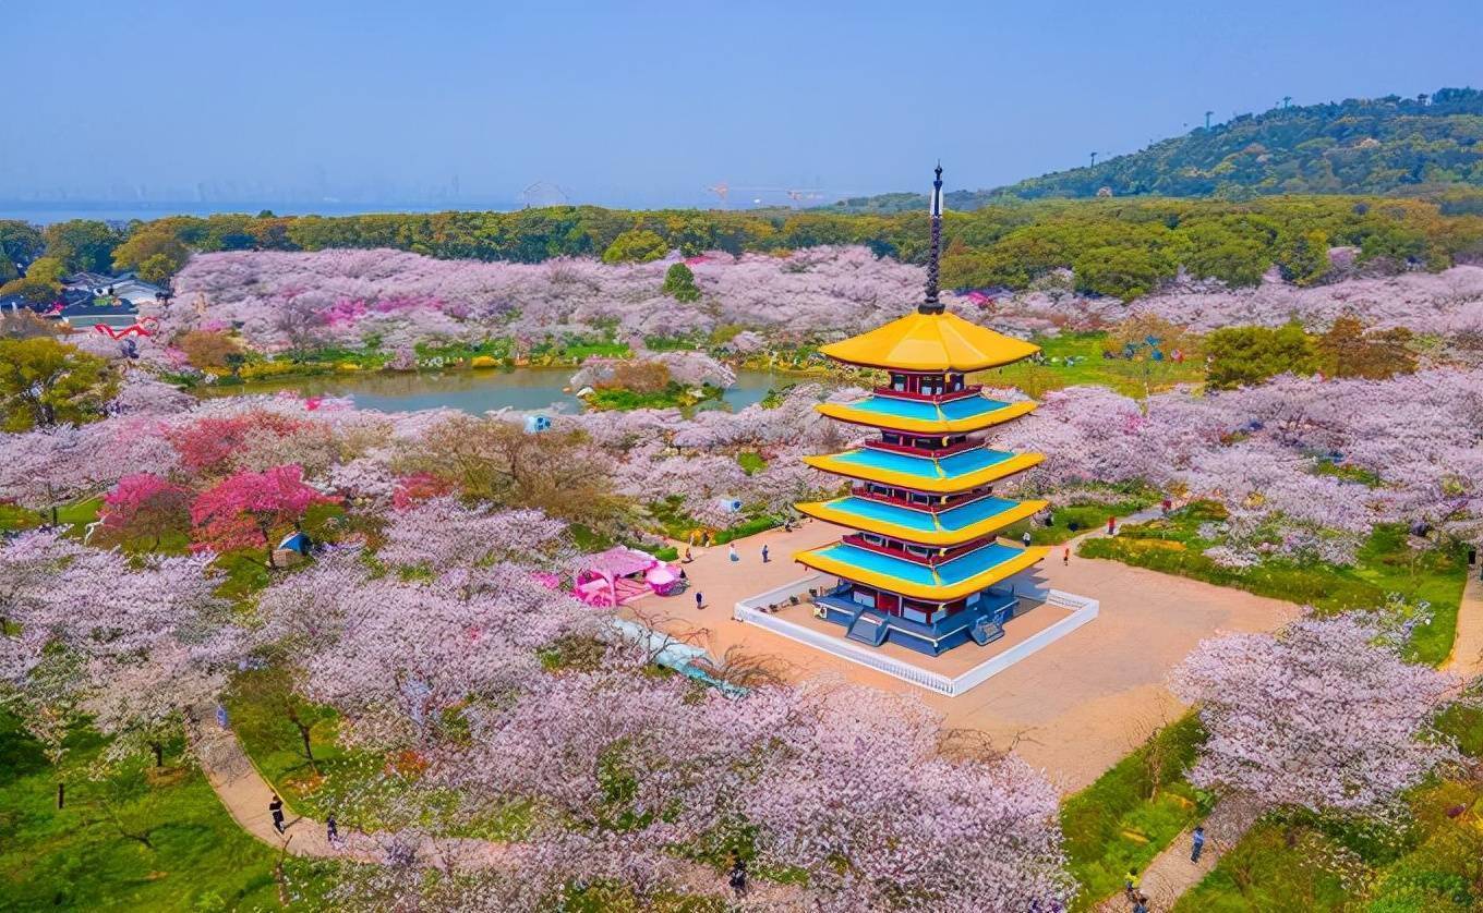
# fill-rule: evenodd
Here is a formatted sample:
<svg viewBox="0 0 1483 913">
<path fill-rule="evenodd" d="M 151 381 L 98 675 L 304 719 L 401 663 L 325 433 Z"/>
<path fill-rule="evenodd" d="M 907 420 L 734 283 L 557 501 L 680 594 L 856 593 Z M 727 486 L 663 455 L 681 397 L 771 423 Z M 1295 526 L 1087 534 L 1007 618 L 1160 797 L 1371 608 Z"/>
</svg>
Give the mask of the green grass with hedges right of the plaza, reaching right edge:
<svg viewBox="0 0 1483 913">
<path fill-rule="evenodd" d="M 1114 538 L 1087 540 L 1080 553 L 1311 605 L 1326 614 L 1379 609 L 1398 593 L 1410 605 L 1431 603 L 1431 620 L 1412 634 L 1409 658 L 1437 665 L 1452 652 L 1467 582 L 1461 547 L 1416 551 L 1403 528 L 1387 525 L 1375 528 L 1352 566 L 1271 559 L 1253 568 L 1225 568 L 1204 556 L 1215 542 L 1198 535 L 1212 516 L 1210 505 L 1192 504 L 1169 517 L 1126 526 Z"/>
</svg>

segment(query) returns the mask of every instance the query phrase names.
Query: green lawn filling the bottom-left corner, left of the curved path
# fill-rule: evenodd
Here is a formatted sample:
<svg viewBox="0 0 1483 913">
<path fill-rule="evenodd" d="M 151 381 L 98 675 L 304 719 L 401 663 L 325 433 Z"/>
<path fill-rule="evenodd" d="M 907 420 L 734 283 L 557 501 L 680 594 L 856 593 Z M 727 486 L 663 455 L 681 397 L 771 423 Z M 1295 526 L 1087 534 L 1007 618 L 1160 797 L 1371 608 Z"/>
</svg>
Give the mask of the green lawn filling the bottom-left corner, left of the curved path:
<svg viewBox="0 0 1483 913">
<path fill-rule="evenodd" d="M 87 769 L 105 747 L 79 728 L 53 769 L 10 714 L 0 713 L 0 910 L 276 910 L 276 854 L 243 833 L 172 746 L 166 768 Z M 67 805 L 56 808 L 58 777 Z M 110 811 L 111 809 L 111 814 Z M 126 837 L 147 831 L 153 849 Z M 291 874 L 319 864 L 288 860 Z"/>
</svg>

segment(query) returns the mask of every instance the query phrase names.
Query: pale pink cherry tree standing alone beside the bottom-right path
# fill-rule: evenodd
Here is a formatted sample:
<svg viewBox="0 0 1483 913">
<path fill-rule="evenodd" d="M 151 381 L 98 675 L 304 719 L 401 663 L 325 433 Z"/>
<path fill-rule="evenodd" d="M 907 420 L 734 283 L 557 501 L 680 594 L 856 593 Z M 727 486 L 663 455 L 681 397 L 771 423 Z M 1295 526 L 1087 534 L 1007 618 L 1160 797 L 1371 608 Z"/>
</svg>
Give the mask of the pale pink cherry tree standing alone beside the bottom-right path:
<svg viewBox="0 0 1483 913">
<path fill-rule="evenodd" d="M 1191 781 L 1269 808 L 1372 812 L 1456 759 L 1431 719 L 1459 682 L 1354 615 L 1206 640 L 1170 683 L 1209 732 Z"/>
</svg>

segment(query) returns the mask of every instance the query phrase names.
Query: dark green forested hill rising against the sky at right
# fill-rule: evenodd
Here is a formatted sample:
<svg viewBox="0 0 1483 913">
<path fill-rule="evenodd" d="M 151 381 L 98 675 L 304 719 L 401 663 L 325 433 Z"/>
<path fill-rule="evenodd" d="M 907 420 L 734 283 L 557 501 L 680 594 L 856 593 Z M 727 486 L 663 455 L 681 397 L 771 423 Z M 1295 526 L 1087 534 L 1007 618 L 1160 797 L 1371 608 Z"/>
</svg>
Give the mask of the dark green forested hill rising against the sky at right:
<svg viewBox="0 0 1483 913">
<path fill-rule="evenodd" d="M 1422 196 L 1483 187 L 1483 92 L 1439 89 L 1416 98 L 1277 107 L 1195 127 L 1154 145 L 983 191 L 949 193 L 977 209 L 1005 197 L 1166 196 L 1243 200 L 1269 194 Z M 844 200 L 836 212 L 919 209 L 922 194 Z"/>
</svg>

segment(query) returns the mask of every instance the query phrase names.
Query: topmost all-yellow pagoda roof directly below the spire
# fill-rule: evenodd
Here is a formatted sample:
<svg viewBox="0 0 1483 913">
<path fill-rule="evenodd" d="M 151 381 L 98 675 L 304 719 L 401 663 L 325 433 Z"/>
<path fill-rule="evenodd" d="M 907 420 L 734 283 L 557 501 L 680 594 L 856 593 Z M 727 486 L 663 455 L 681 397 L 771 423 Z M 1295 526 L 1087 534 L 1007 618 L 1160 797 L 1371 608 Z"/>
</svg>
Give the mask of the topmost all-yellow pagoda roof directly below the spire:
<svg viewBox="0 0 1483 913">
<path fill-rule="evenodd" d="M 914 311 L 871 332 L 830 342 L 830 359 L 897 371 L 982 371 L 1026 359 L 1040 347 L 957 314 Z"/>
</svg>

